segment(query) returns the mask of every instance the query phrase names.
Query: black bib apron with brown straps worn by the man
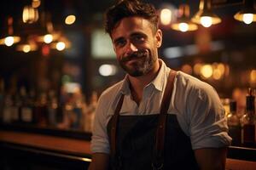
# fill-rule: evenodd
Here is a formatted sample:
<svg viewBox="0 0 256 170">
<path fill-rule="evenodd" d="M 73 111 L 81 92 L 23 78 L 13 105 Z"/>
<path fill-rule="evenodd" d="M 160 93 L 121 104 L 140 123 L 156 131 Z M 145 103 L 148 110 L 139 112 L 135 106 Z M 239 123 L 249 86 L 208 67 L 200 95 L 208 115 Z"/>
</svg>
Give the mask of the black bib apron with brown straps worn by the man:
<svg viewBox="0 0 256 170">
<path fill-rule="evenodd" d="M 110 169 L 199 169 L 190 139 L 179 126 L 177 116 L 167 114 L 174 77 L 169 76 L 168 79 L 171 86 L 167 83 L 165 94 L 167 90 L 171 92 L 167 95 L 167 99 L 164 95 L 160 111 L 162 113 L 163 105 L 166 105 L 165 114 L 162 114 L 166 115 L 163 119 L 166 124 L 164 126 L 160 125 L 161 114 L 119 116 L 124 99 L 124 94 L 122 94 L 114 116 L 108 122 L 108 137 L 111 146 Z M 159 127 L 165 127 L 163 135 L 157 132 Z"/>
</svg>

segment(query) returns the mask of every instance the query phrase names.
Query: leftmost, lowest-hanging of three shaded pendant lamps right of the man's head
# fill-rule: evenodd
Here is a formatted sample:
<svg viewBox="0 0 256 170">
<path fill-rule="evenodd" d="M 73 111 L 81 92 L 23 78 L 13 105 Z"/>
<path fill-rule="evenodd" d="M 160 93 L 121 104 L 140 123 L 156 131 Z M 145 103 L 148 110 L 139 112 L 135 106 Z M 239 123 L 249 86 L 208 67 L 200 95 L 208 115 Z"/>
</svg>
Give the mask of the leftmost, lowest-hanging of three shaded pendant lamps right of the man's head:
<svg viewBox="0 0 256 170">
<path fill-rule="evenodd" d="M 181 17 L 177 18 L 177 22 L 172 24 L 172 29 L 177 31 L 195 31 L 197 30 L 196 24 L 189 20 L 189 5 L 182 4 L 179 6 Z"/>
</svg>

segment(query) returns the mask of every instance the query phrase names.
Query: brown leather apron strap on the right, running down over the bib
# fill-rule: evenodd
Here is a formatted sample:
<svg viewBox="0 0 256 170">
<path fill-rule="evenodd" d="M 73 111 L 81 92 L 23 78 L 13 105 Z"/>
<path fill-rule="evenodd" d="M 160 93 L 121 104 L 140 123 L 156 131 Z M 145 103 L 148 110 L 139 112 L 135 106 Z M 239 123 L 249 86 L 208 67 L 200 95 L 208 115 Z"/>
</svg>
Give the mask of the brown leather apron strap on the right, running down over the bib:
<svg viewBox="0 0 256 170">
<path fill-rule="evenodd" d="M 160 116 L 156 128 L 154 155 L 152 167 L 153 169 L 162 169 L 164 163 L 164 149 L 165 149 L 165 136 L 166 136 L 166 119 L 167 111 L 172 98 L 173 82 L 177 71 L 170 71 L 166 83 L 165 94 L 163 96 L 160 106 Z"/>
</svg>

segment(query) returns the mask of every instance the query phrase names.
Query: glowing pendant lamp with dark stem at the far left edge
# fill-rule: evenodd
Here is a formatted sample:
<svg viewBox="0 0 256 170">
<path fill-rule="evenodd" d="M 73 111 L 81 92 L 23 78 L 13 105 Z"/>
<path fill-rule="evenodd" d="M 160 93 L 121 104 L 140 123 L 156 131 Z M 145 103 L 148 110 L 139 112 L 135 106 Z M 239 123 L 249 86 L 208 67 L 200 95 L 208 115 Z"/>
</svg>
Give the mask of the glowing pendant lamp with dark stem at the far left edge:
<svg viewBox="0 0 256 170">
<path fill-rule="evenodd" d="M 8 34 L 6 37 L 3 37 L 0 39 L 0 44 L 10 47 L 16 42 L 20 42 L 20 37 L 14 36 L 13 18 L 9 17 L 8 18 Z"/>
</svg>

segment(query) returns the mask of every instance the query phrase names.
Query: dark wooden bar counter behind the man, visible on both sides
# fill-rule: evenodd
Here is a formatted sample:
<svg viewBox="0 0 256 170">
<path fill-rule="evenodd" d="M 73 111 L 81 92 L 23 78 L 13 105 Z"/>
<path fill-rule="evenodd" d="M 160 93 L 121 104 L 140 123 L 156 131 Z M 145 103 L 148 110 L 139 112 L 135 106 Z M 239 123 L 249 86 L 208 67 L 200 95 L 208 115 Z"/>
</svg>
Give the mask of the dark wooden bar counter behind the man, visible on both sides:
<svg viewBox="0 0 256 170">
<path fill-rule="evenodd" d="M 0 169 L 87 169 L 90 156 L 90 140 L 0 130 Z M 256 169 L 256 149 L 230 146 L 227 157 L 228 170 Z"/>
</svg>

